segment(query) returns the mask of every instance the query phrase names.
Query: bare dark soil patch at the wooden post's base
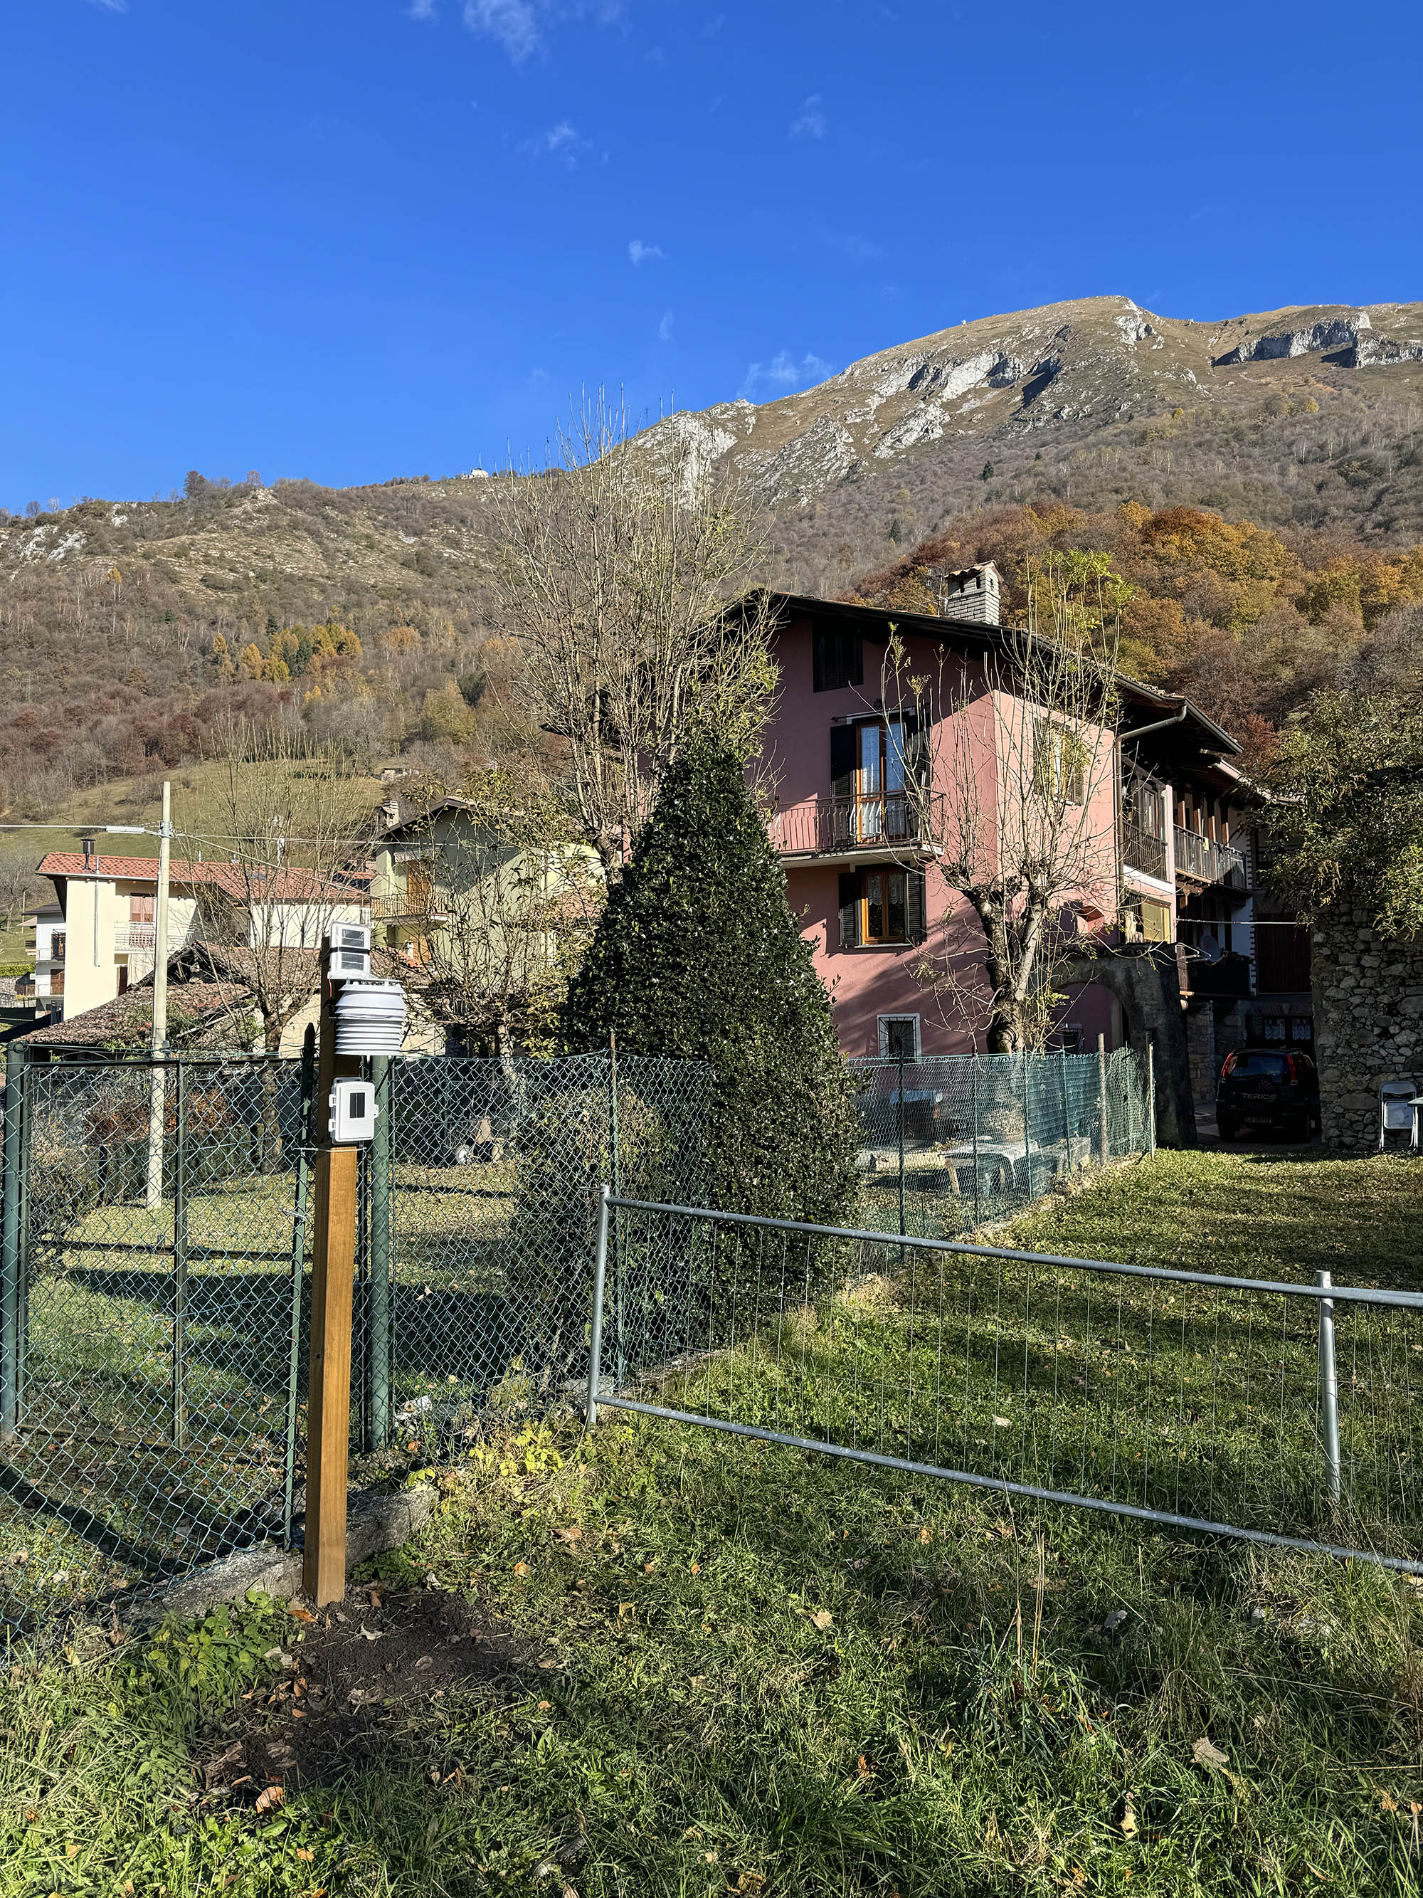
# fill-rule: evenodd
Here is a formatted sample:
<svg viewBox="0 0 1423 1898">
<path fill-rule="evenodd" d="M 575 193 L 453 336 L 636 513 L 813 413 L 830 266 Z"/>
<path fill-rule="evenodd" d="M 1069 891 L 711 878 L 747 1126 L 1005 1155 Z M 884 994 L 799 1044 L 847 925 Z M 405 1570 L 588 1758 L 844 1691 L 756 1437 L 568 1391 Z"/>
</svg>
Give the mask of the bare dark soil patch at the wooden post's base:
<svg viewBox="0 0 1423 1898">
<path fill-rule="evenodd" d="M 199 1769 L 214 1803 L 269 1811 L 286 1788 L 368 1771 L 412 1716 L 469 1682 L 503 1682 L 508 1699 L 548 1684 L 539 1655 L 491 1628 L 478 1600 L 436 1589 L 370 1583 L 302 1632 L 271 1651 L 275 1680 L 205 1737 Z"/>
</svg>

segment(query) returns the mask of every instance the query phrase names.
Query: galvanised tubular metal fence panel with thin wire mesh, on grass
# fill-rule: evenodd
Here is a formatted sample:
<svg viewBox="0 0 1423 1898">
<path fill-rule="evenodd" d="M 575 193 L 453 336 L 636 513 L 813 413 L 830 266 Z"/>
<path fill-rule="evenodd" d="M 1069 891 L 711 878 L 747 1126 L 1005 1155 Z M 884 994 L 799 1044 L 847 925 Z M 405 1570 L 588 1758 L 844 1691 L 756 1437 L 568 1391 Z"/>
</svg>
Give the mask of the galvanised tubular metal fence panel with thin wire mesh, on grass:
<svg viewBox="0 0 1423 1898">
<path fill-rule="evenodd" d="M 600 1403 L 1423 1570 L 1423 1294 L 628 1198 L 611 1234 Z"/>
</svg>

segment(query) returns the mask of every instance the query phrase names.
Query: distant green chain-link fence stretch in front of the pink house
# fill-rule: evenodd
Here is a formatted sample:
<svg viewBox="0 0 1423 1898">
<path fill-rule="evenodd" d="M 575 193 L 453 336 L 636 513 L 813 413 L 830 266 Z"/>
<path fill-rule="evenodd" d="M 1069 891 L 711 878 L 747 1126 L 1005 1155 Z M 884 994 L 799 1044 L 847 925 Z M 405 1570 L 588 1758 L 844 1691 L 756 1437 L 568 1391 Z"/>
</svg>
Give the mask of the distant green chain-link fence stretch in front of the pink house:
<svg viewBox="0 0 1423 1898">
<path fill-rule="evenodd" d="M 852 1061 L 865 1224 L 954 1237 L 1089 1167 L 1155 1148 L 1152 1059 L 1110 1053 Z"/>
</svg>

